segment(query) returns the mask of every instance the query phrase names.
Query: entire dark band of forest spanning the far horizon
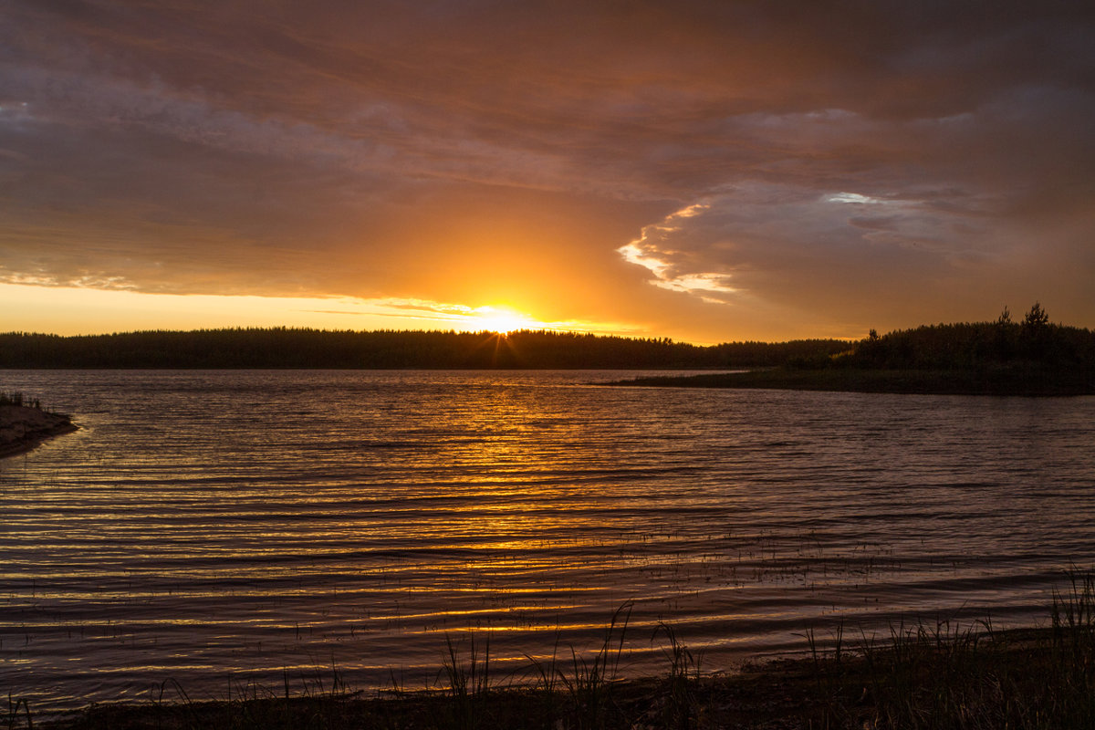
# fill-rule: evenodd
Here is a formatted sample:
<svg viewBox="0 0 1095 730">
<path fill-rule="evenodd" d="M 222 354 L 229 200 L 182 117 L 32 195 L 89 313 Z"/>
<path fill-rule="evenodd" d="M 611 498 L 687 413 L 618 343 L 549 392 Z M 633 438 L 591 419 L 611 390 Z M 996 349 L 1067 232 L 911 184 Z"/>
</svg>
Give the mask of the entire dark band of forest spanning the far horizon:
<svg viewBox="0 0 1095 730">
<path fill-rule="evenodd" d="M 1095 371 L 1095 334 L 1052 324 L 1037 302 L 1021 321 L 924 325 L 858 341 L 700 346 L 669 338 L 519 331 L 307 328 L 0 334 L 0 368 L 739 369 Z"/>
</svg>

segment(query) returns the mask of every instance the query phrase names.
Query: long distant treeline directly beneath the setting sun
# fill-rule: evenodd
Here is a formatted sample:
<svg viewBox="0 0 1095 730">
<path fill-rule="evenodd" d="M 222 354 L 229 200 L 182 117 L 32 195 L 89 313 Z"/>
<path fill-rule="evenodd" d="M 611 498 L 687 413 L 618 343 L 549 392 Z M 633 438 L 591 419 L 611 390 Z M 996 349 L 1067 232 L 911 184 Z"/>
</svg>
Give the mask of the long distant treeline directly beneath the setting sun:
<svg viewBox="0 0 1095 730">
<path fill-rule="evenodd" d="M 668 338 L 521 331 L 331 332 L 306 328 L 0 334 L 0 368 L 749 368 L 819 360 L 838 339 L 696 346 Z"/>
</svg>

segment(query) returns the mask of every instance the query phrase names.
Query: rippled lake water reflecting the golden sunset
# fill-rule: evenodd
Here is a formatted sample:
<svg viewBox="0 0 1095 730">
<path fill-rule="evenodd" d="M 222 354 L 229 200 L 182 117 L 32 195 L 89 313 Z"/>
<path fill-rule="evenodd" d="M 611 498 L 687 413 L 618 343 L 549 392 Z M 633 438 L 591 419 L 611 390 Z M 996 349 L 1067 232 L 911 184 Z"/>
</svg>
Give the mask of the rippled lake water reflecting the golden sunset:
<svg viewBox="0 0 1095 730">
<path fill-rule="evenodd" d="M 0 461 L 0 692 L 414 688 L 487 635 L 520 680 L 621 606 L 624 672 L 662 621 L 719 669 L 1044 621 L 1095 564 L 1095 398 L 590 384 L 626 374 L 0 373 L 82 427 Z"/>
</svg>

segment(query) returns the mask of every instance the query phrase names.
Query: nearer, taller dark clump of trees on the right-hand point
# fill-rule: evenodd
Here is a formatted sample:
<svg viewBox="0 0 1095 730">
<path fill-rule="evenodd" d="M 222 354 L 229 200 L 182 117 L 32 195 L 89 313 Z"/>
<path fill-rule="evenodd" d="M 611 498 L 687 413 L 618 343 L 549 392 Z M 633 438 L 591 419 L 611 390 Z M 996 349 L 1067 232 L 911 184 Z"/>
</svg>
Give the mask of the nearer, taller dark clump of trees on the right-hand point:
<svg viewBox="0 0 1095 730">
<path fill-rule="evenodd" d="M 849 352 L 791 364 L 884 370 L 1095 370 L 1095 333 L 1051 324 L 1037 302 L 1022 322 L 937 324 L 871 336 Z"/>
</svg>

